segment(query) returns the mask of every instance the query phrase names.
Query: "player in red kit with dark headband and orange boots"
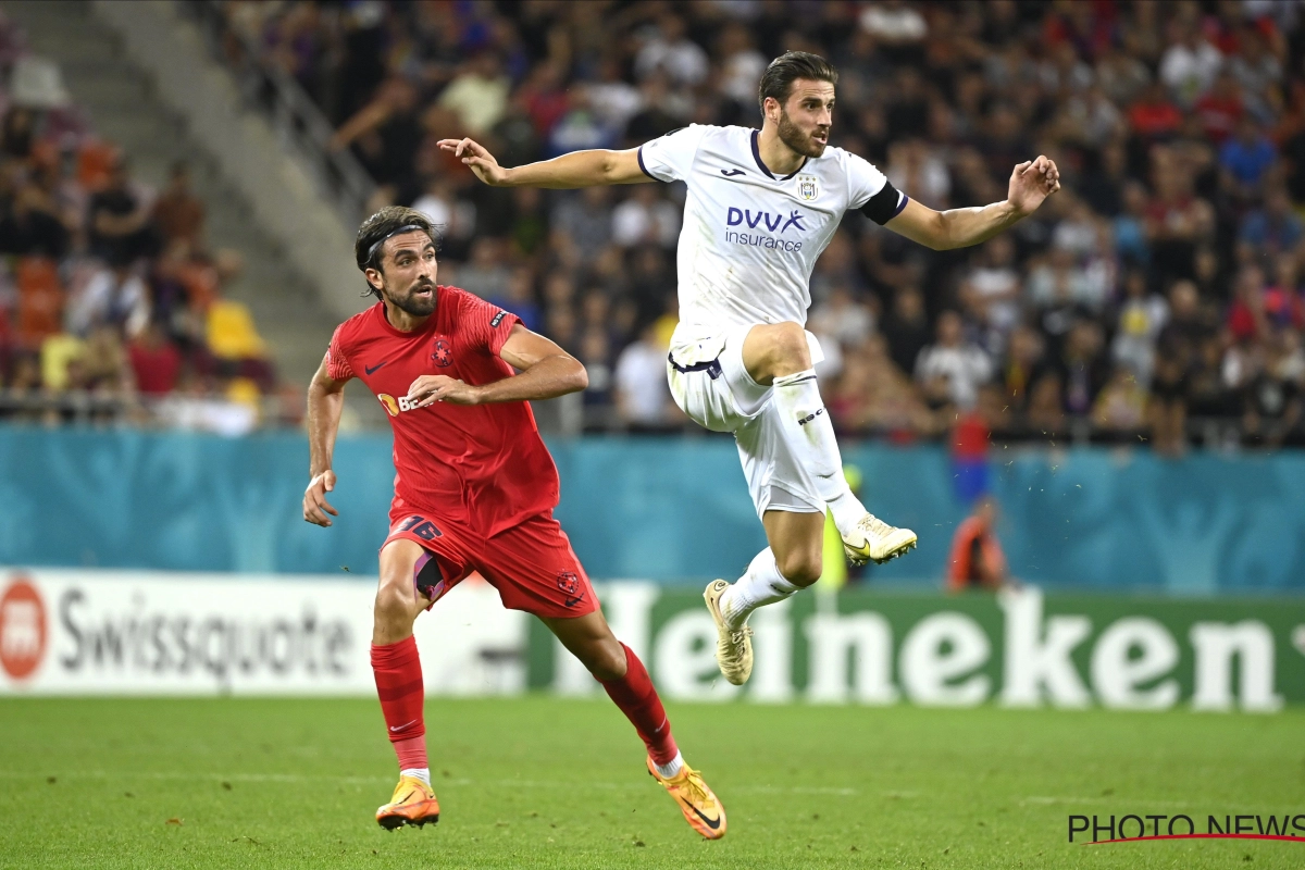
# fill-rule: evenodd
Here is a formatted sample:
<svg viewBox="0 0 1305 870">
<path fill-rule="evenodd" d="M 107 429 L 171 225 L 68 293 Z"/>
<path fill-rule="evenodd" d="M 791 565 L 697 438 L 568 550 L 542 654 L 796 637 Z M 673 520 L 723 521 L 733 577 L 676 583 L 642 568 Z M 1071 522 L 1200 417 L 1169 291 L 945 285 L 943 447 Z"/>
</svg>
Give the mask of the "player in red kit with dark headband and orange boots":
<svg viewBox="0 0 1305 870">
<path fill-rule="evenodd" d="M 304 519 L 330 526 L 331 451 L 345 383 L 360 378 L 390 415 L 394 501 L 381 547 L 372 670 L 399 784 L 376 811 L 386 828 L 440 818 L 425 754 L 422 663 L 412 623 L 472 571 L 504 607 L 534 613 L 579 659 L 647 746 L 647 768 L 689 824 L 726 833 L 726 814 L 684 763 L 652 681 L 616 639 L 552 509 L 557 470 L 529 399 L 587 385 L 585 367 L 512 313 L 436 284 L 435 231 L 412 209 L 381 209 L 354 245 L 380 297 L 345 321 L 308 387 L 312 477 Z M 513 368 L 519 374 L 513 374 Z"/>
</svg>

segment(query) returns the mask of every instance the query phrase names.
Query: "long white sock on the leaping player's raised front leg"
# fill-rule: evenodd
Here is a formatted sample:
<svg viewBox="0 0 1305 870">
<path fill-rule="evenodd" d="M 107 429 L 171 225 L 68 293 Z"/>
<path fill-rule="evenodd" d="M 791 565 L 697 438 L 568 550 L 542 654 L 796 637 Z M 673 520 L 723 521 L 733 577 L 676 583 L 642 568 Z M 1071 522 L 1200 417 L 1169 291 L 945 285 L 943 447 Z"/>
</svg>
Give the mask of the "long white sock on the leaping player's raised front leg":
<svg viewBox="0 0 1305 870">
<path fill-rule="evenodd" d="M 834 423 L 820 398 L 816 369 L 775 378 L 775 402 L 786 421 L 783 432 L 793 455 L 803 457 L 803 464 L 816 480 L 816 490 L 829 505 L 838 531 L 848 533 L 865 515 L 865 506 L 852 494 L 843 477 L 843 457 L 834 438 Z"/>
</svg>

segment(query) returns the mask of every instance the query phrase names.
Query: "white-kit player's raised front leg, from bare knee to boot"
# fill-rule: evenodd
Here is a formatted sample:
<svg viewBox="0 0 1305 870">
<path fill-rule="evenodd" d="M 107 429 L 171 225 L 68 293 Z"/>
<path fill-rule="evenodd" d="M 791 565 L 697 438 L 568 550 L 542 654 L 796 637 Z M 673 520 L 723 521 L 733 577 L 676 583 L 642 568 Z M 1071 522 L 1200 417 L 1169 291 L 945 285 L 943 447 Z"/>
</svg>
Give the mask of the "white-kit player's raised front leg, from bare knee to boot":
<svg viewBox="0 0 1305 870">
<path fill-rule="evenodd" d="M 743 363 L 757 383 L 774 389 L 774 402 L 784 421 L 783 437 L 790 451 L 810 471 L 843 537 L 847 557 L 855 565 L 864 565 L 910 552 L 916 545 L 915 532 L 889 526 L 867 511 L 843 477 L 843 459 L 820 397 L 806 331 L 791 321 L 754 326 L 744 339 Z"/>
</svg>

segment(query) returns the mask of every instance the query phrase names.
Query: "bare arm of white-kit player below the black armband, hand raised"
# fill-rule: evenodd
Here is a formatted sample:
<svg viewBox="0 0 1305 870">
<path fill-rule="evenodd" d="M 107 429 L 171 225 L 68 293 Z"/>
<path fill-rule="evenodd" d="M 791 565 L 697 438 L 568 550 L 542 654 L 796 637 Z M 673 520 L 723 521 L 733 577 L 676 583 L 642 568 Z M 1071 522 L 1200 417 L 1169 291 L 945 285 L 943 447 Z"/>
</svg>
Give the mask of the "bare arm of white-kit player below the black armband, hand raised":
<svg viewBox="0 0 1305 870">
<path fill-rule="evenodd" d="M 1039 157 L 1021 163 L 1010 173 L 1010 187 L 1004 202 L 993 202 L 981 209 L 934 211 L 911 200 L 902 214 L 883 226 L 934 250 L 966 248 L 988 241 L 1023 220 L 1057 190 L 1060 170 L 1051 158 Z"/>
</svg>

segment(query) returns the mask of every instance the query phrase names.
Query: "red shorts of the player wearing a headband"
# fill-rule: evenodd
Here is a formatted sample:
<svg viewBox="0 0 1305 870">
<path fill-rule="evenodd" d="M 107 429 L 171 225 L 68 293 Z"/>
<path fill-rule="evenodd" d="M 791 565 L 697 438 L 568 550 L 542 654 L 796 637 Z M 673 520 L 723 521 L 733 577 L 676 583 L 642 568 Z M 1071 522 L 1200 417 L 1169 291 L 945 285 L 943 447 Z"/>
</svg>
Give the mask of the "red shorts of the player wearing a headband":
<svg viewBox="0 0 1305 870">
<path fill-rule="evenodd" d="M 433 600 L 478 571 L 510 610 L 565 618 L 598 609 L 589 575 L 551 513 L 493 537 L 432 515 L 407 514 L 390 527 L 385 543 L 399 537 L 416 541 L 435 557 L 444 579 L 435 586 Z"/>
</svg>

